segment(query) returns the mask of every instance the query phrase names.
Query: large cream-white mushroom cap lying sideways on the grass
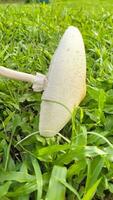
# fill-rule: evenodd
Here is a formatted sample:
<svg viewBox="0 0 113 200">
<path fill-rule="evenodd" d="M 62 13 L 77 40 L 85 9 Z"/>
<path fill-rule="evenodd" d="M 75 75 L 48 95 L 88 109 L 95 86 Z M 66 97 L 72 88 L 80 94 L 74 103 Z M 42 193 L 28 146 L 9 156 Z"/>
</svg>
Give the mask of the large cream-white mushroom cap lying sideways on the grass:
<svg viewBox="0 0 113 200">
<path fill-rule="evenodd" d="M 42 95 L 40 134 L 51 137 L 58 133 L 71 119 L 70 112 L 80 104 L 85 94 L 84 43 L 79 30 L 70 26 L 61 38 L 49 67 L 48 84 Z"/>
</svg>

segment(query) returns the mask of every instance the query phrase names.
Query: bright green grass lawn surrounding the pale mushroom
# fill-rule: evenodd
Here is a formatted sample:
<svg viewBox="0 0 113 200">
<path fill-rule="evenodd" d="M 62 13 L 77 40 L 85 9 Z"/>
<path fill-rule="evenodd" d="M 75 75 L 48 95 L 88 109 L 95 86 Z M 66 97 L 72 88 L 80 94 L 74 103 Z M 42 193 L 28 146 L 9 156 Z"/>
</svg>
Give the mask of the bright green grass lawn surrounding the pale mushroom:
<svg viewBox="0 0 113 200">
<path fill-rule="evenodd" d="M 46 74 L 69 25 L 84 38 L 87 95 L 59 135 L 38 133 L 40 93 L 0 78 L 2 200 L 113 199 L 112 1 L 0 5 L 0 65 Z"/>
</svg>

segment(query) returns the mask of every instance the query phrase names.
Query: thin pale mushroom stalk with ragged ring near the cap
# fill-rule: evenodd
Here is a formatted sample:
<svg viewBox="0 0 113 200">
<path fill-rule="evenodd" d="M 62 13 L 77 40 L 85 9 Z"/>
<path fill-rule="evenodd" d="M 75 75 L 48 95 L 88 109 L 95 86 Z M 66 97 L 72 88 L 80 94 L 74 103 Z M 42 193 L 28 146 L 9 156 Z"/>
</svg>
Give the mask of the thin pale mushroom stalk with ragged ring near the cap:
<svg viewBox="0 0 113 200">
<path fill-rule="evenodd" d="M 12 69 L 8 69 L 6 67 L 0 66 L 0 76 L 4 76 L 10 79 L 24 81 L 32 83 L 33 91 L 40 92 L 44 90 L 47 84 L 47 78 L 45 75 L 41 73 L 36 73 L 36 75 L 18 72 Z"/>
</svg>

